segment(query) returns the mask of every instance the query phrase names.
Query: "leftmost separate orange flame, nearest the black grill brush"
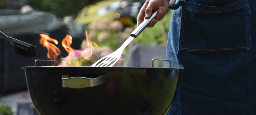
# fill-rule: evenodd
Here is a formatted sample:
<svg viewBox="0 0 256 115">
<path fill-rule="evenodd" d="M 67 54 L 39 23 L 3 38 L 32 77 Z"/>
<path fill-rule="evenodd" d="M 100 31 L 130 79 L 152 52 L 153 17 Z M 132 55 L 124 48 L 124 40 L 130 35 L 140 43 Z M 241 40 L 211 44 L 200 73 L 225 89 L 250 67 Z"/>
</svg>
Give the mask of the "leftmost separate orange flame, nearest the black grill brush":
<svg viewBox="0 0 256 115">
<path fill-rule="evenodd" d="M 40 34 L 40 36 L 40 44 L 43 45 L 43 47 L 46 47 L 48 50 L 47 57 L 49 59 L 55 60 L 55 65 L 59 65 L 60 63 L 58 61 L 58 56 L 61 54 L 60 49 L 51 43 L 54 42 L 56 45 L 58 45 L 58 41 L 50 38 L 49 35 L 46 34 Z"/>
</svg>

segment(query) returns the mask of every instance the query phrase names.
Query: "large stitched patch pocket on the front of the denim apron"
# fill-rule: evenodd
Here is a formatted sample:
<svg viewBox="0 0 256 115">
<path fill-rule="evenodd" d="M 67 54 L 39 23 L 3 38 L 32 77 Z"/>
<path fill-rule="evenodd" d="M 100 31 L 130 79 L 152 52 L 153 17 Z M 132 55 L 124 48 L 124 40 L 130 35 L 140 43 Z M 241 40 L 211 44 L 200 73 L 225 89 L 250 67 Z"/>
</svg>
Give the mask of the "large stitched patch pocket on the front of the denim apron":
<svg viewBox="0 0 256 115">
<path fill-rule="evenodd" d="M 182 5 L 180 50 L 214 51 L 252 48 L 251 12 L 247 0 L 238 0 L 223 7 L 185 1 L 180 1 L 178 4 Z"/>
</svg>

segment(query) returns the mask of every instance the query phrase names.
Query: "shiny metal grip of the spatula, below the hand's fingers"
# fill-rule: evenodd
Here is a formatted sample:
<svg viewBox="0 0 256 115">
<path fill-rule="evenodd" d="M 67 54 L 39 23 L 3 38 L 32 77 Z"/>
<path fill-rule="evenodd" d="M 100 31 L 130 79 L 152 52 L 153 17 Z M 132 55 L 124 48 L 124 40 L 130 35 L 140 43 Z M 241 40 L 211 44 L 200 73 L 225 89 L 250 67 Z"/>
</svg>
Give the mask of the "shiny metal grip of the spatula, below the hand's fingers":
<svg viewBox="0 0 256 115">
<path fill-rule="evenodd" d="M 154 12 L 154 11 L 153 11 Z M 132 37 L 136 38 L 151 22 L 151 20 L 156 18 L 156 15 L 158 13 L 158 9 L 155 10 L 155 12 L 153 13 L 150 18 L 145 19 L 131 34 Z"/>
</svg>

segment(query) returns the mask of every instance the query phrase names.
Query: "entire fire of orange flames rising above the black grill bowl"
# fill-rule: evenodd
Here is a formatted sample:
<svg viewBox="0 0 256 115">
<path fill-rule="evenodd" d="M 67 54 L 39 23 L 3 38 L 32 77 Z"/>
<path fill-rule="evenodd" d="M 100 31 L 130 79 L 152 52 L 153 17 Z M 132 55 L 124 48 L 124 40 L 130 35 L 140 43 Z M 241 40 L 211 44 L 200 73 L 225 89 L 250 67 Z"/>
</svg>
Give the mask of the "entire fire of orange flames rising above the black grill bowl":
<svg viewBox="0 0 256 115">
<path fill-rule="evenodd" d="M 92 47 L 93 46 L 98 47 L 98 45 L 95 42 L 90 41 L 90 39 L 88 38 L 87 30 L 85 30 L 85 35 L 86 35 L 86 42 L 84 42 L 85 43 L 84 45 L 85 47 L 87 46 L 87 48 L 83 47 L 83 50 L 75 50 L 71 47 L 72 37 L 70 35 L 67 34 L 65 38 L 63 38 L 61 44 L 64 47 L 64 49 L 68 52 L 68 56 L 61 58 L 60 66 L 85 66 L 87 62 L 91 62 L 91 63 L 96 62 L 92 60 L 92 54 L 93 54 Z M 40 34 L 40 36 L 41 36 L 40 43 L 43 45 L 43 47 L 46 47 L 48 50 L 48 54 L 47 54 L 48 58 L 54 59 L 55 65 L 59 65 L 59 61 L 57 60 L 57 57 L 61 54 L 61 52 L 53 43 L 51 43 L 51 42 L 54 42 L 55 44 L 58 44 L 58 41 L 50 38 L 48 35 L 45 35 L 45 34 Z M 93 46 L 92 46 L 92 43 L 93 43 Z M 121 66 L 121 64 L 122 64 L 122 58 L 120 58 L 115 65 Z"/>
</svg>

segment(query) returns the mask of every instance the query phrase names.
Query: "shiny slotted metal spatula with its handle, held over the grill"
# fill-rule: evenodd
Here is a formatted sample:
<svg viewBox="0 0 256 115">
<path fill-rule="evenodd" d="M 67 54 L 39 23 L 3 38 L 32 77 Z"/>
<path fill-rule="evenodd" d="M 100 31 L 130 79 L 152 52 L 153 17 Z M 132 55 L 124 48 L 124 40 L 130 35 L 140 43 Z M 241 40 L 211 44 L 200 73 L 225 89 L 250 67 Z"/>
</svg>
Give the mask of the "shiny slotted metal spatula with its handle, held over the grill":
<svg viewBox="0 0 256 115">
<path fill-rule="evenodd" d="M 152 16 L 148 19 L 145 19 L 131 34 L 131 36 L 124 42 L 124 44 L 118 48 L 115 52 L 109 54 L 108 56 L 105 56 L 95 62 L 91 67 L 112 67 L 116 62 L 120 59 L 122 56 L 122 52 L 124 51 L 124 48 L 132 42 L 134 38 L 136 38 L 151 22 L 151 20 L 156 18 L 156 15 L 158 13 L 158 9 L 152 14 Z M 104 60 L 103 60 L 104 59 Z M 102 61 L 103 60 L 103 61 Z M 113 62 L 113 63 L 112 63 Z M 98 65 L 97 65 L 98 64 Z M 111 65 L 110 65 L 111 64 Z"/>
</svg>

